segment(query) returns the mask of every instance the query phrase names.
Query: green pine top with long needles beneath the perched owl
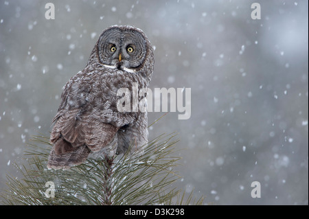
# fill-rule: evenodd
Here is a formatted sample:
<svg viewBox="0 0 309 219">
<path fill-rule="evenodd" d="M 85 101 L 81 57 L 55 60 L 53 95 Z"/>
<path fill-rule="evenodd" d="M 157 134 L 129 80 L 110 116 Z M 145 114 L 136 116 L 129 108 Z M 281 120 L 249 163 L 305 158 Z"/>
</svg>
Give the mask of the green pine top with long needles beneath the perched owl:
<svg viewBox="0 0 309 219">
<path fill-rule="evenodd" d="M 7 176 L 8 189 L 0 196 L 4 205 L 178 205 L 202 204 L 190 194 L 172 188 L 180 178 L 174 171 L 181 157 L 174 157 L 176 135 L 160 135 L 148 142 L 145 153 L 111 159 L 87 159 L 70 170 L 47 170 L 52 146 L 49 138 L 36 136 L 25 151 L 25 164 L 15 167 L 22 179 Z M 45 195 L 55 185 L 54 198 Z"/>
</svg>

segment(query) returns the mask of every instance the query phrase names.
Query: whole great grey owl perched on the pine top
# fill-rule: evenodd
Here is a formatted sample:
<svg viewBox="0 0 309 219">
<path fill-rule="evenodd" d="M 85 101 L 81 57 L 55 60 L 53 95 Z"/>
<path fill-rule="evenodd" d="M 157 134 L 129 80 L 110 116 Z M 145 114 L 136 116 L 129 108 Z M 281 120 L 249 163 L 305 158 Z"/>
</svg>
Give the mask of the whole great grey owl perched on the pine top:
<svg viewBox="0 0 309 219">
<path fill-rule="evenodd" d="M 146 89 L 153 66 L 153 49 L 144 32 L 117 25 L 104 30 L 87 66 L 63 88 L 52 121 L 53 148 L 47 167 L 67 169 L 87 158 L 124 153 L 129 146 L 130 153 L 143 152 L 148 141 L 147 111 L 118 111 L 122 96 L 117 91 L 126 88 L 132 95 L 133 83 L 139 91 Z M 139 100 L 145 97 L 146 93 L 139 95 Z"/>
</svg>

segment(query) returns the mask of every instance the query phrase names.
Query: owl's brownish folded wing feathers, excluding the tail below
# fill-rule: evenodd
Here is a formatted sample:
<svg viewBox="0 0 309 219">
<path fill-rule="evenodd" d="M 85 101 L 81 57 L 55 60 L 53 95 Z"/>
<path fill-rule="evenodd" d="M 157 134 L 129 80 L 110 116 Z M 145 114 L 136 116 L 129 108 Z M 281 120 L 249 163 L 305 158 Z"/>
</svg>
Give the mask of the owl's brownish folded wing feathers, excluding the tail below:
<svg viewBox="0 0 309 219">
<path fill-rule="evenodd" d="M 60 114 L 54 119 L 56 121 L 50 137 L 55 154 L 72 152 L 84 145 L 98 152 L 110 143 L 119 129 L 94 119 L 90 113 L 81 113 L 80 109 Z"/>
</svg>

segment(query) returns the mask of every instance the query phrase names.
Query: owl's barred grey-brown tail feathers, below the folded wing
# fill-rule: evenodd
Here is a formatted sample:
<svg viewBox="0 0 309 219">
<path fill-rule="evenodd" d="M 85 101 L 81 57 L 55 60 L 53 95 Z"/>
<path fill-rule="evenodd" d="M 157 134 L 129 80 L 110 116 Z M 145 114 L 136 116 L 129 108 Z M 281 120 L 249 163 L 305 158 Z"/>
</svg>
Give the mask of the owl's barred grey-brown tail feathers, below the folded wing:
<svg viewBox="0 0 309 219">
<path fill-rule="evenodd" d="M 75 150 L 65 154 L 56 154 L 53 149 L 49 154 L 47 168 L 55 170 L 69 169 L 74 165 L 83 163 L 87 159 L 89 153 L 90 150 L 85 145 L 75 148 Z"/>
</svg>

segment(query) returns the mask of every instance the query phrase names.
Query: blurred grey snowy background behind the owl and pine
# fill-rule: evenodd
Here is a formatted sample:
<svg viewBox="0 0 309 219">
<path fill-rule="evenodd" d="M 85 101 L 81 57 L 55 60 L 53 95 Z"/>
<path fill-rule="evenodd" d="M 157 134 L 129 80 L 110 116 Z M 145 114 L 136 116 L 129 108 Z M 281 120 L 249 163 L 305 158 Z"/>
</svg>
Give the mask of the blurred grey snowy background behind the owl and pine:
<svg viewBox="0 0 309 219">
<path fill-rule="evenodd" d="M 150 39 L 150 89 L 191 88 L 190 119 L 150 128 L 150 139 L 179 132 L 177 187 L 213 205 L 308 205 L 308 1 L 297 0 L 0 0 L 0 188 L 32 136 L 49 135 L 62 87 L 110 25 Z"/>
</svg>

